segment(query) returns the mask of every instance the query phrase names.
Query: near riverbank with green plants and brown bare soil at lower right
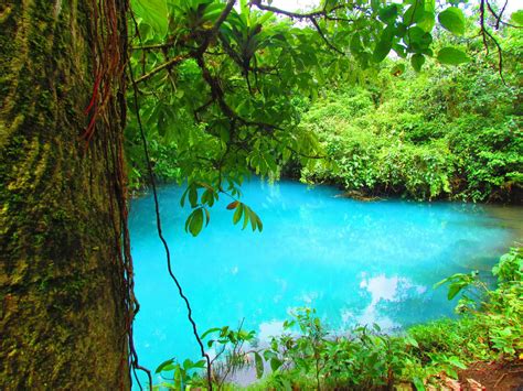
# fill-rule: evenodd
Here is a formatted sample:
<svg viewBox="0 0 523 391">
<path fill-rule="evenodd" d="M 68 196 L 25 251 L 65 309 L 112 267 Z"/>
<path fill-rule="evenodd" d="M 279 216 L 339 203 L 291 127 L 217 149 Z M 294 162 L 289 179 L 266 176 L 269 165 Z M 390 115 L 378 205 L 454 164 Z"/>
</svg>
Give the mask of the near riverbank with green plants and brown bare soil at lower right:
<svg viewBox="0 0 523 391">
<path fill-rule="evenodd" d="M 463 293 L 461 317 L 417 325 L 404 335 L 374 326 L 333 338 L 309 308 L 286 323 L 287 332 L 298 334 L 275 337 L 268 348 L 238 350 L 238 334 L 222 333 L 230 367 L 215 376 L 234 373 L 235 366 L 252 366 L 258 378 L 269 371 L 260 382 L 230 383 L 226 390 L 516 390 L 523 385 L 522 264 L 523 248 L 503 256 L 492 270 L 495 290 L 485 289 L 476 274 L 448 278 L 449 296 Z M 478 289 L 481 298 L 467 298 Z M 253 338 L 244 336 L 239 346 Z"/>
</svg>

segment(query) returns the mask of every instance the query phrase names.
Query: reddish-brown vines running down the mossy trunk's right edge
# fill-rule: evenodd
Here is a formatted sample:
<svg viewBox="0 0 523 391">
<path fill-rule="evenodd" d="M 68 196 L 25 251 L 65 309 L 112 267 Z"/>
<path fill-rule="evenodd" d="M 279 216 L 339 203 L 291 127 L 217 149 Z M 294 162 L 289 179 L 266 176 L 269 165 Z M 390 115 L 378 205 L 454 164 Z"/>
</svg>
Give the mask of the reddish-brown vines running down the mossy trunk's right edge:
<svg viewBox="0 0 523 391">
<path fill-rule="evenodd" d="M 89 116 L 88 126 L 82 139 L 88 148 L 96 143 L 103 151 L 106 162 L 106 174 L 109 178 L 108 192 L 116 200 L 117 210 L 110 204 L 113 227 L 117 251 L 118 270 L 121 270 L 121 281 L 117 287 L 121 292 L 125 308 L 125 330 L 121 338 L 121 359 L 119 366 L 120 389 L 128 383 L 132 370 L 137 384 L 142 389 L 137 370 L 145 371 L 152 390 L 150 371 L 140 366 L 134 341 L 134 319 L 139 311 L 135 296 L 134 265 L 130 252 L 130 236 L 128 229 L 128 192 L 124 159 L 124 134 L 126 126 L 126 58 L 128 50 L 127 0 L 92 0 L 90 31 L 94 84 L 90 101 L 85 109 Z M 96 132 L 97 126 L 104 126 L 107 131 Z M 94 138 L 95 134 L 97 138 Z M 96 141 L 95 141 L 96 140 Z M 130 380 L 130 379 L 129 379 Z"/>
</svg>

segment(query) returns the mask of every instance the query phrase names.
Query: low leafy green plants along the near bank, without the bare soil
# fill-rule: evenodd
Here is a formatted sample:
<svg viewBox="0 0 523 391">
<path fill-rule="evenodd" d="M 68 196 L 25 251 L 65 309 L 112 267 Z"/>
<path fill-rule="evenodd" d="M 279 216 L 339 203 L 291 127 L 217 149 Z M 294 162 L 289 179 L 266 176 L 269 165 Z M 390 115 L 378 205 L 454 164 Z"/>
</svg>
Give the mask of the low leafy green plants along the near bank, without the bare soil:
<svg viewBox="0 0 523 391">
<path fill-rule="evenodd" d="M 376 325 L 335 335 L 310 308 L 298 308 L 285 323 L 285 333 L 267 347 L 257 347 L 254 332 L 211 329 L 202 338 L 216 352 L 214 380 L 235 389 L 226 384 L 227 377 L 253 366 L 259 378 L 268 374 L 252 390 L 370 390 L 402 384 L 425 390 L 445 385 L 448 377 L 457 378 L 459 369 L 477 360 L 517 360 L 523 354 L 523 248 L 501 257 L 492 273 L 498 278 L 494 290 L 477 272 L 441 281 L 438 285 L 449 286 L 449 298 L 465 292 L 456 308 L 460 317 L 415 326 L 402 335 L 385 334 Z M 174 383 L 162 387 L 180 389 L 202 385 L 194 370 L 203 367 L 204 361 L 172 359 L 158 372 L 173 374 Z"/>
</svg>

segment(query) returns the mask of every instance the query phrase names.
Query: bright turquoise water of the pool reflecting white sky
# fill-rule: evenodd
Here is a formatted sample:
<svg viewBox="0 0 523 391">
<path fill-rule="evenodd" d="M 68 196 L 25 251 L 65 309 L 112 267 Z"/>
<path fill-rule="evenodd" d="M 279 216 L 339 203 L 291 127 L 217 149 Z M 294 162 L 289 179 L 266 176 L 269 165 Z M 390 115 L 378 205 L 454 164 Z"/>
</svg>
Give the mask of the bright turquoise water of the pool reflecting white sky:
<svg viewBox="0 0 523 391">
<path fill-rule="evenodd" d="M 183 189 L 159 192 L 173 270 L 200 332 L 244 327 L 265 339 L 278 334 L 289 309 L 312 306 L 335 330 L 377 323 L 385 329 L 451 316 L 441 279 L 479 269 L 485 275 L 521 233 L 523 208 L 404 200 L 356 202 L 334 187 L 253 181 L 243 200 L 264 231 L 242 231 L 223 200 L 210 226 L 193 238 L 183 230 Z M 130 215 L 140 362 L 198 357 L 186 311 L 167 273 L 152 198 L 132 202 Z M 520 230 L 519 230 L 520 229 Z"/>
</svg>

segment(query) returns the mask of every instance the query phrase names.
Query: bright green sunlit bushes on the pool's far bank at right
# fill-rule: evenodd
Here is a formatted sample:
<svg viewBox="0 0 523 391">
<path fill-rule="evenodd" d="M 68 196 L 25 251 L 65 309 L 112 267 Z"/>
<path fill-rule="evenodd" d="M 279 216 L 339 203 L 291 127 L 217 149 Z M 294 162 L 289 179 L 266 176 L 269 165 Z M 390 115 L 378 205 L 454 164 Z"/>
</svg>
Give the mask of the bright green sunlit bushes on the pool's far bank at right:
<svg viewBox="0 0 523 391">
<path fill-rule="evenodd" d="M 521 31 L 501 41 L 517 64 Z M 391 74 L 396 62 L 364 86 L 329 91 L 302 124 L 335 164 L 303 177 L 364 195 L 521 200 L 521 66 L 505 68 L 503 84 L 488 58 L 473 58 L 458 68 L 431 63 L 421 75 Z"/>
</svg>

